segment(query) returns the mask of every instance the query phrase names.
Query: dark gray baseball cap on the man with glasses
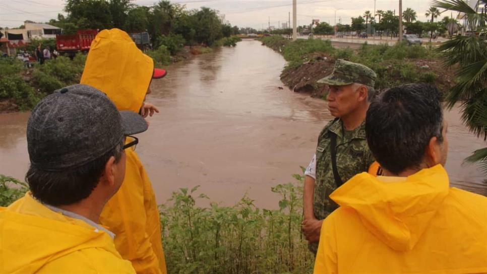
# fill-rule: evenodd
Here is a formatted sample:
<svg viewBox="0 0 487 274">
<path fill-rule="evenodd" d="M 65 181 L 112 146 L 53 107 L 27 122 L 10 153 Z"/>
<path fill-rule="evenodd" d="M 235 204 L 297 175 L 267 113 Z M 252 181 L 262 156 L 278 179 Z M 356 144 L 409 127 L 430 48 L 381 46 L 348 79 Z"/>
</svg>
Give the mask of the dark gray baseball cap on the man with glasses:
<svg viewBox="0 0 487 274">
<path fill-rule="evenodd" d="M 147 127 L 139 114 L 118 112 L 99 90 L 69 86 L 46 96 L 32 111 L 27 123 L 30 162 L 47 171 L 79 167 Z"/>
</svg>

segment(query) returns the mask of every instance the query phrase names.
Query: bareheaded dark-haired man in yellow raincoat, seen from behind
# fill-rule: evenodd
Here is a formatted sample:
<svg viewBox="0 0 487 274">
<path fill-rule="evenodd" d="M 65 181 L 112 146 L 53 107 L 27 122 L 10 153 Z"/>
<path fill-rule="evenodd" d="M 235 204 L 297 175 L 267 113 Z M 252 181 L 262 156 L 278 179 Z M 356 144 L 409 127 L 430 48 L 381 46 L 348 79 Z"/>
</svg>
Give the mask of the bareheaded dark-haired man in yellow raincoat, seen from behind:
<svg viewBox="0 0 487 274">
<path fill-rule="evenodd" d="M 314 273 L 487 273 L 487 197 L 450 188 L 441 94 L 383 92 L 366 118 L 383 175 L 354 176 L 330 197 Z"/>
</svg>

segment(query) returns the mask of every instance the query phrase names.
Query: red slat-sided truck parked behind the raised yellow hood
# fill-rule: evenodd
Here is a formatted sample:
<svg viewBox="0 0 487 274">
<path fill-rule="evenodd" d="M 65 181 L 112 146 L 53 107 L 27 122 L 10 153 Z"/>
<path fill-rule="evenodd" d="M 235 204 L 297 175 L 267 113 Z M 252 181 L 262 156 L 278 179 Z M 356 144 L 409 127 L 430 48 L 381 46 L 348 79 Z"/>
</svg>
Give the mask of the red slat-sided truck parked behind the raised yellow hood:
<svg viewBox="0 0 487 274">
<path fill-rule="evenodd" d="M 56 35 L 56 47 L 59 54 L 74 56 L 77 52 L 90 50 L 91 42 L 98 30 L 78 30 L 77 34 Z"/>
</svg>

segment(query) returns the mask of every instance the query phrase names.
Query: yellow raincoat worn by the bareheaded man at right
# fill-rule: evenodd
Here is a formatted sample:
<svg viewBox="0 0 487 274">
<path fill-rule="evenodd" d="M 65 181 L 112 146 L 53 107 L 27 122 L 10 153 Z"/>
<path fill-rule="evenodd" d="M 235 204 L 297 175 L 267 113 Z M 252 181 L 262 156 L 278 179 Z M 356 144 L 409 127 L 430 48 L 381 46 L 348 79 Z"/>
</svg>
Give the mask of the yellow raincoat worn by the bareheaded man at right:
<svg viewBox="0 0 487 274">
<path fill-rule="evenodd" d="M 441 165 L 361 173 L 330 197 L 340 208 L 323 222 L 315 274 L 487 273 L 487 197 L 450 188 Z"/>
</svg>

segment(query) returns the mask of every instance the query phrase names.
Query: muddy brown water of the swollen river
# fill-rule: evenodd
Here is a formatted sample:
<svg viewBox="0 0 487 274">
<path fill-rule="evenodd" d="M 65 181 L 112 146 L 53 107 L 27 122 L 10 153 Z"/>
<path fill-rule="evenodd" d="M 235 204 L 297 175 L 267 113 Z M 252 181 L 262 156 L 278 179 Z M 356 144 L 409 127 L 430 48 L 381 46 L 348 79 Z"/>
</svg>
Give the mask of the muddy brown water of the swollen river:
<svg viewBox="0 0 487 274">
<path fill-rule="evenodd" d="M 160 113 L 149 118 L 137 152 L 159 203 L 172 191 L 200 185 L 198 193 L 225 205 L 247 192 L 258 207 L 278 207 L 271 187 L 294 180 L 291 174 L 308 164 L 332 118 L 325 101 L 283 86 L 284 65 L 260 42 L 242 41 L 168 66 L 167 77 L 154 81 L 147 101 Z M 23 178 L 27 171 L 28 116 L 0 115 L 0 174 Z M 462 125 L 458 108 L 445 116 L 452 184 L 485 194 L 484 175 L 462 161 L 487 144 Z"/>
</svg>

